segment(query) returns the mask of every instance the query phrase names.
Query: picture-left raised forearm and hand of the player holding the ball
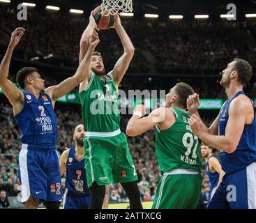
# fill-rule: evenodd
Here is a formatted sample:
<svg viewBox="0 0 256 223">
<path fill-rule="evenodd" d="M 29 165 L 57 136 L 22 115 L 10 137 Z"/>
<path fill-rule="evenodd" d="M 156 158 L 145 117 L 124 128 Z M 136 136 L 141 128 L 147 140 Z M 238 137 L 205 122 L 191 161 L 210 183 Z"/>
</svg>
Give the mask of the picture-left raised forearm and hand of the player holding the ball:
<svg viewBox="0 0 256 223">
<path fill-rule="evenodd" d="M 79 63 L 82 62 L 84 59 L 84 56 L 88 50 L 89 47 L 89 40 L 91 38 L 91 34 L 93 33 L 94 29 L 98 30 L 98 26 L 94 20 L 93 17 L 93 11 L 91 12 L 91 15 L 89 17 L 89 24 L 84 30 L 84 33 L 82 33 L 82 37 L 80 39 L 80 54 L 79 54 Z"/>
</svg>

